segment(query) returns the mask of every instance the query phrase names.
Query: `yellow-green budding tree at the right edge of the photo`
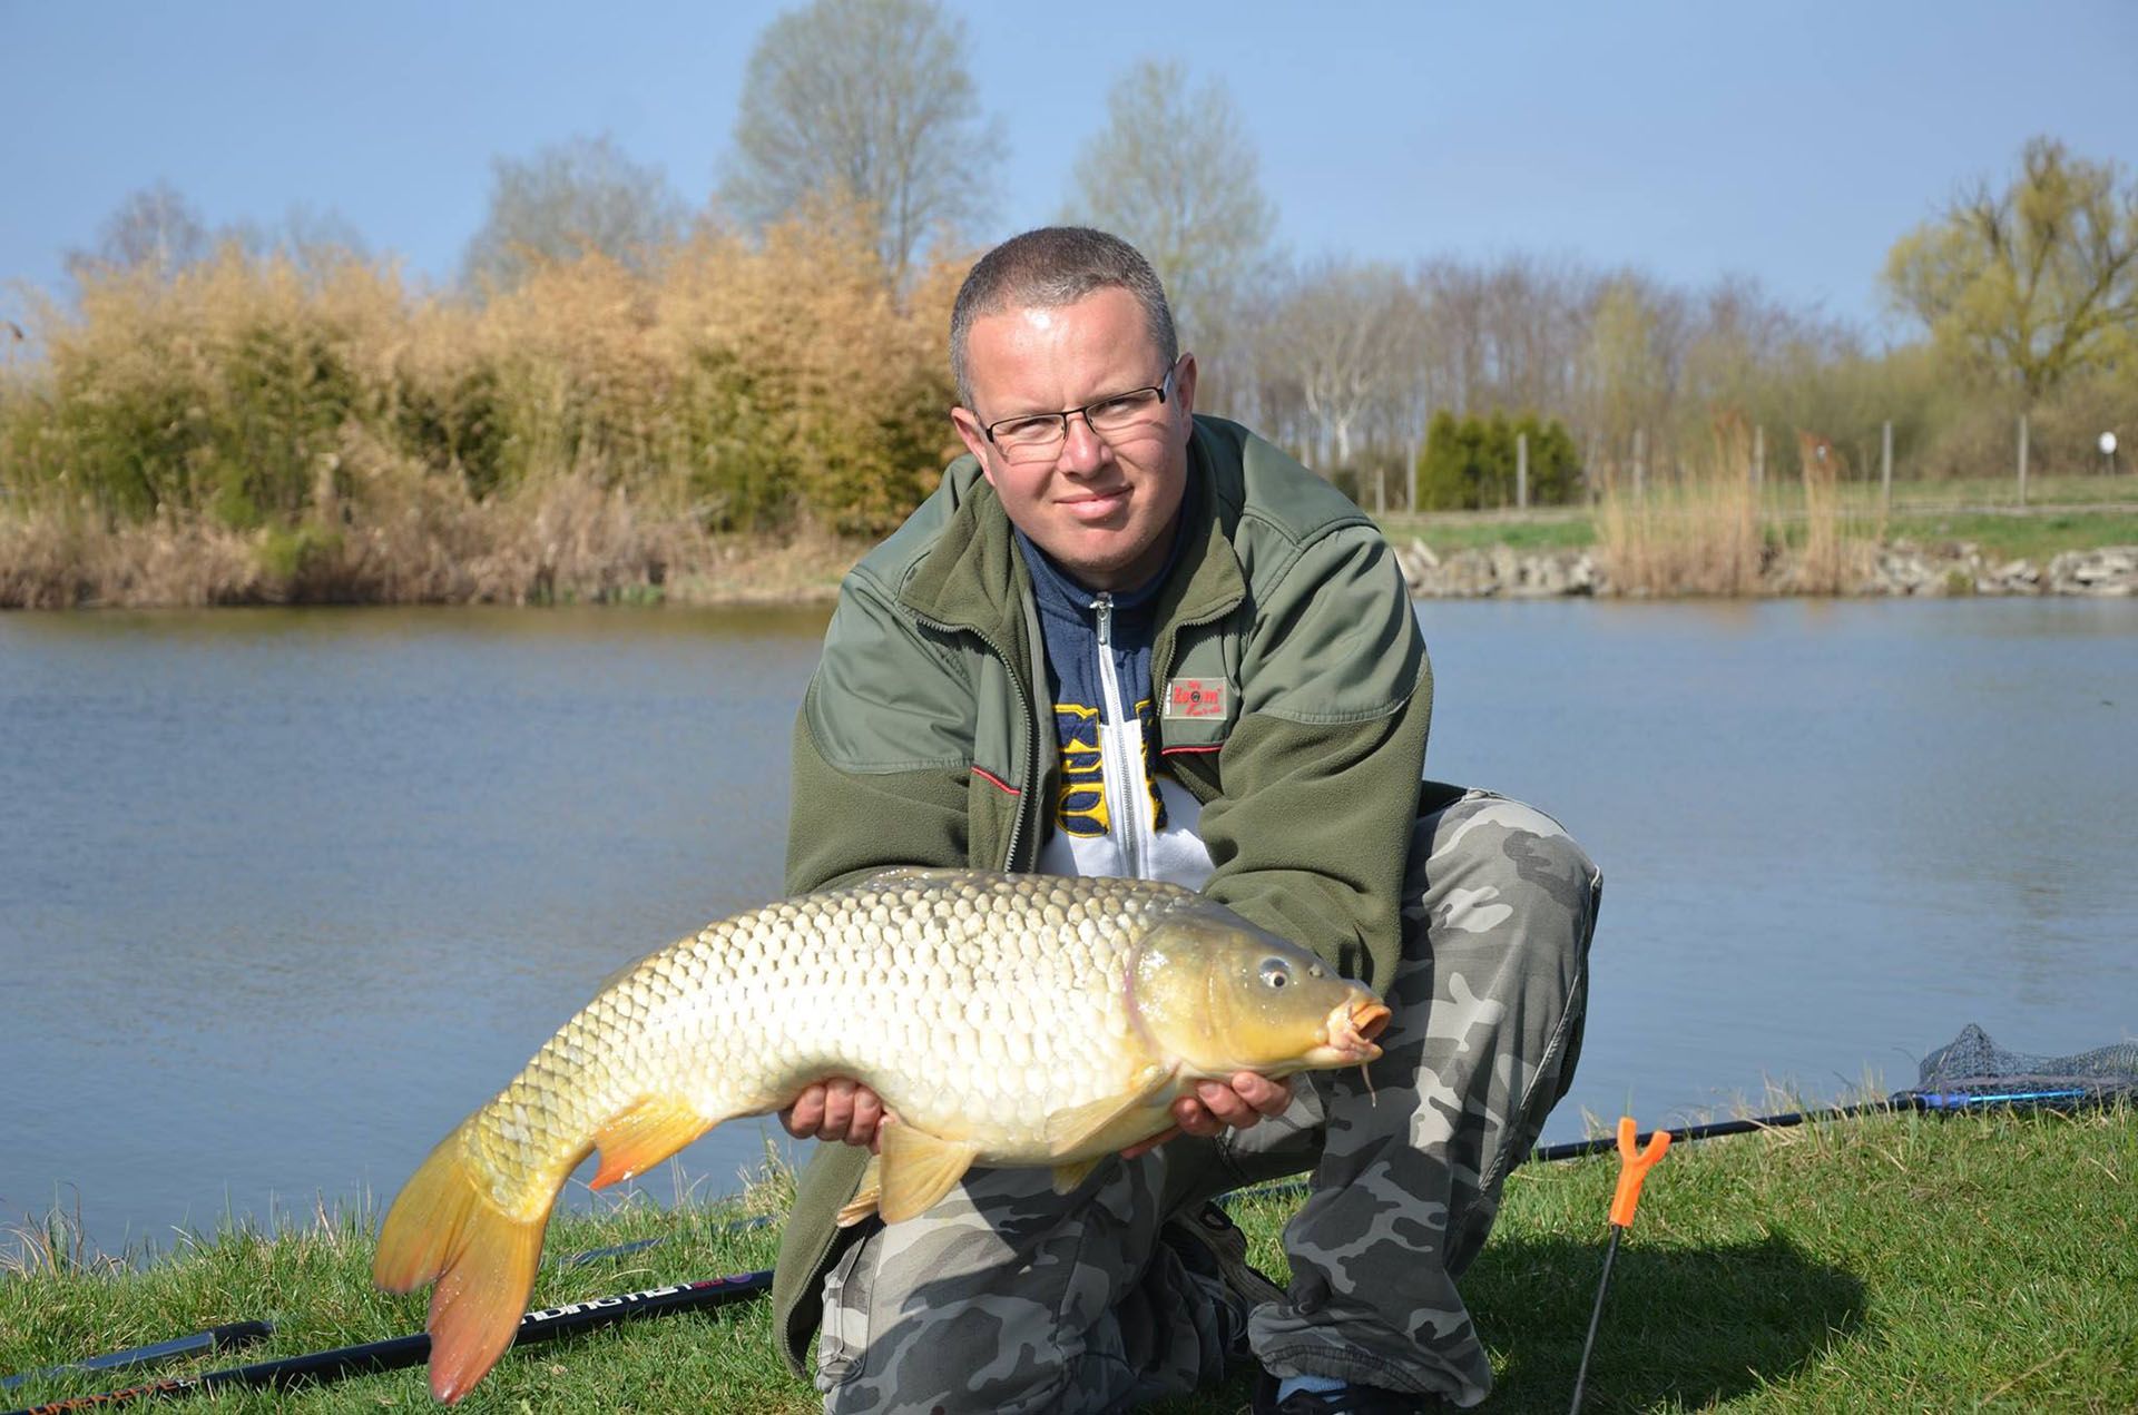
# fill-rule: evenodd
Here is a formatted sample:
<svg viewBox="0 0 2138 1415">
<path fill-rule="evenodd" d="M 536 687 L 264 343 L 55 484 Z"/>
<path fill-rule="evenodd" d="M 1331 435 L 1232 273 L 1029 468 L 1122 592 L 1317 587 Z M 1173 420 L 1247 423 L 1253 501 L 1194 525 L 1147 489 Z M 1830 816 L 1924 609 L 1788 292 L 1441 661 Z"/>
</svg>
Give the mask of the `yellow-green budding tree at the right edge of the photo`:
<svg viewBox="0 0 2138 1415">
<path fill-rule="evenodd" d="M 2038 137 L 1999 195 L 1986 182 L 1886 256 L 1894 306 L 1935 344 L 2038 404 L 2138 333 L 2138 186 Z"/>
</svg>

